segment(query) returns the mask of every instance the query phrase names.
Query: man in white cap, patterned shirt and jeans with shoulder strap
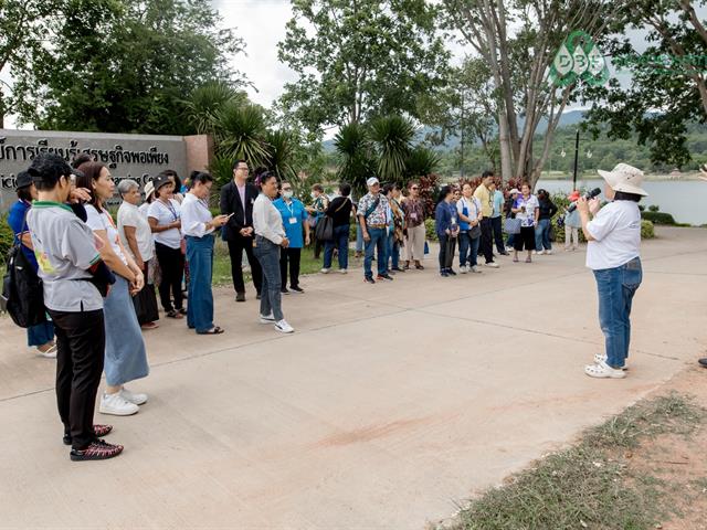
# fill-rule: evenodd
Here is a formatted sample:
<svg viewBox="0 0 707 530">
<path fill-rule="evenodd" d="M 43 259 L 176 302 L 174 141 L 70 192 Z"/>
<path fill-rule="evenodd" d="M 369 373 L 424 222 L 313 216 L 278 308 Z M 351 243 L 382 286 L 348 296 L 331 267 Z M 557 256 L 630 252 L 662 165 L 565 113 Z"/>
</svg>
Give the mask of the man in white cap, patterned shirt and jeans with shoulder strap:
<svg viewBox="0 0 707 530">
<path fill-rule="evenodd" d="M 363 258 L 363 282 L 374 284 L 376 279 L 393 279 L 388 274 L 387 268 L 387 230 L 389 225 L 388 219 L 388 199 L 380 192 L 380 181 L 376 177 L 371 177 L 366 181 L 368 193 L 366 193 L 358 203 L 358 220 L 366 242 L 366 257 Z M 378 276 L 373 279 L 371 265 L 373 263 L 373 253 L 378 251 Z"/>
</svg>

